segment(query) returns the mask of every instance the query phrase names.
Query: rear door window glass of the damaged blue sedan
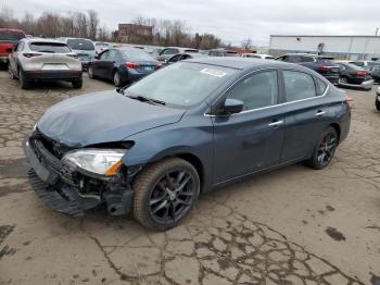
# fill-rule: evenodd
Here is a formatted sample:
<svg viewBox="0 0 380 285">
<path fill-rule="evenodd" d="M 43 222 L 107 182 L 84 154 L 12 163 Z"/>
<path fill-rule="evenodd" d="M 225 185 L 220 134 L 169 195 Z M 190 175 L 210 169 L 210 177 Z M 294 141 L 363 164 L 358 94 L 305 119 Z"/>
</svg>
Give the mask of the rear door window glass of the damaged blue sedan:
<svg viewBox="0 0 380 285">
<path fill-rule="evenodd" d="M 288 102 L 316 96 L 313 77 L 306 73 L 283 71 L 283 83 Z"/>
</svg>

